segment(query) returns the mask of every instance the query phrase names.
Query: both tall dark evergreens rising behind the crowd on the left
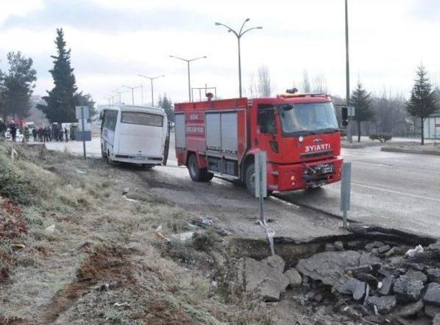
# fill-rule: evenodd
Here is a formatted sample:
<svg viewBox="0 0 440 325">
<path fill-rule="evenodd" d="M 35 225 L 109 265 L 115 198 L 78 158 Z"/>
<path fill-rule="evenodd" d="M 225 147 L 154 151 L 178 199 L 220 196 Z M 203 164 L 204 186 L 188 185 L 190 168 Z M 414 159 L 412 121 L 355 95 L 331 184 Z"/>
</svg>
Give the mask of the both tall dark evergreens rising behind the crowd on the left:
<svg viewBox="0 0 440 325">
<path fill-rule="evenodd" d="M 87 106 L 94 114 L 95 102 L 91 95 L 78 91 L 74 69 L 70 63 L 71 49 L 66 48 L 62 28 L 56 29 L 56 55 L 51 56 L 54 67 L 50 70 L 54 88 L 43 96 L 45 104 L 37 108 L 50 122 L 76 122 L 75 107 Z M 8 71 L 0 70 L 0 116 L 3 122 L 30 115 L 30 98 L 35 87 L 36 70 L 32 58 L 21 52 L 9 52 Z"/>
</svg>

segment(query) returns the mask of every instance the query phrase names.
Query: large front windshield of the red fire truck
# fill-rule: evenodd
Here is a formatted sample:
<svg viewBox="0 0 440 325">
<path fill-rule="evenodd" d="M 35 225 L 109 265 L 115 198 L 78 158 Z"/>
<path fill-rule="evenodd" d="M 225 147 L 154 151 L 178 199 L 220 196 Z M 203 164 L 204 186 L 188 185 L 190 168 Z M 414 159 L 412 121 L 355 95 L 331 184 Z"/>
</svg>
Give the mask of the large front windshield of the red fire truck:
<svg viewBox="0 0 440 325">
<path fill-rule="evenodd" d="M 280 105 L 284 135 L 312 135 L 338 131 L 338 120 L 331 102 Z"/>
</svg>

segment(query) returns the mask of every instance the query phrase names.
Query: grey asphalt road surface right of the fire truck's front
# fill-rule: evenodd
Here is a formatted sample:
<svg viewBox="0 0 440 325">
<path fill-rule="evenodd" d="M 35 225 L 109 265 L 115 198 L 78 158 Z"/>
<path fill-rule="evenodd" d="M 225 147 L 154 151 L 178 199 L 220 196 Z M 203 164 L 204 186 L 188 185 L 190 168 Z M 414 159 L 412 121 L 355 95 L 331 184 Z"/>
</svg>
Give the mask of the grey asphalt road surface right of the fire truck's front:
<svg viewBox="0 0 440 325">
<path fill-rule="evenodd" d="M 379 147 L 343 149 L 342 156 L 352 163 L 349 218 L 439 236 L 439 156 L 385 153 Z M 281 197 L 342 215 L 340 183 Z"/>
</svg>

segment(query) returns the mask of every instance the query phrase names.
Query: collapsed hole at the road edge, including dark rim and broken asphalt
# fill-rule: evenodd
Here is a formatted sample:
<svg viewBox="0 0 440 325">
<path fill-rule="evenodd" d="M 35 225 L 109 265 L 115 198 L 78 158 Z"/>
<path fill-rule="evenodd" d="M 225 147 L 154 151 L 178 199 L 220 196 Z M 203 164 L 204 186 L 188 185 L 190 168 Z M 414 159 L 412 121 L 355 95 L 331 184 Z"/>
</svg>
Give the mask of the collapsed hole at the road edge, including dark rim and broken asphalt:
<svg viewBox="0 0 440 325">
<path fill-rule="evenodd" d="M 303 306 L 322 324 L 431 324 L 440 318 L 439 242 L 381 227 L 351 230 L 307 243 L 274 238 L 276 256 L 265 240 L 234 238 L 230 255 L 237 259 L 238 282 L 266 301 Z"/>
</svg>

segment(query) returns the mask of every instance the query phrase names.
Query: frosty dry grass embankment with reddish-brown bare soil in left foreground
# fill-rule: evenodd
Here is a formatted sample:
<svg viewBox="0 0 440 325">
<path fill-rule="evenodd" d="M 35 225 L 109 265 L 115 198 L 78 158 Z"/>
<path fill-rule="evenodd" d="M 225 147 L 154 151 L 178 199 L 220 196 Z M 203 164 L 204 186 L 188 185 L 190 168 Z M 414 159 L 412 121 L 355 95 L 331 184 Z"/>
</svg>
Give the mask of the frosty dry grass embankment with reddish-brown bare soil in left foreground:
<svg viewBox="0 0 440 325">
<path fill-rule="evenodd" d="M 8 159 L 4 150 L 0 159 Z M 137 175 L 68 153 L 19 153 L 17 170 L 32 189 L 28 234 L 1 284 L 0 316 L 59 324 L 274 324 L 263 302 L 227 289 L 222 238 L 200 231 L 188 243 L 167 244 L 155 236 L 159 226 L 169 238 L 191 229 L 192 216 L 154 197 Z M 135 201 L 122 196 L 126 187 Z M 50 225 L 55 232 L 45 230 Z"/>
</svg>

